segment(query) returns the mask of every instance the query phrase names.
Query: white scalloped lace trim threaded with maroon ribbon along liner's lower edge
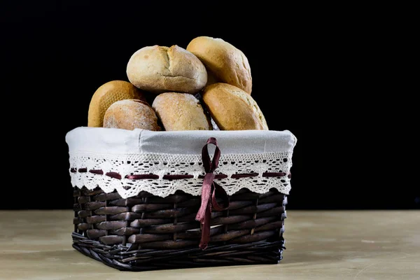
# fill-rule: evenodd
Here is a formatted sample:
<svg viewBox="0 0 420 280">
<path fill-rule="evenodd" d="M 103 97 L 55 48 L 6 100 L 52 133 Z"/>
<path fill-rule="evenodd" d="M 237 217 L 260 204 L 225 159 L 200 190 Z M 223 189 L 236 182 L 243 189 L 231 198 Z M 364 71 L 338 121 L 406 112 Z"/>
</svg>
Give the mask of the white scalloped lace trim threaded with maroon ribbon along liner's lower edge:
<svg viewBox="0 0 420 280">
<path fill-rule="evenodd" d="M 271 188 L 290 191 L 293 152 L 221 155 L 214 174 L 228 195 L 242 188 L 267 193 Z M 117 190 L 121 197 L 146 191 L 159 197 L 176 192 L 201 195 L 205 175 L 200 155 L 70 153 L 71 184 L 105 193 Z"/>
</svg>

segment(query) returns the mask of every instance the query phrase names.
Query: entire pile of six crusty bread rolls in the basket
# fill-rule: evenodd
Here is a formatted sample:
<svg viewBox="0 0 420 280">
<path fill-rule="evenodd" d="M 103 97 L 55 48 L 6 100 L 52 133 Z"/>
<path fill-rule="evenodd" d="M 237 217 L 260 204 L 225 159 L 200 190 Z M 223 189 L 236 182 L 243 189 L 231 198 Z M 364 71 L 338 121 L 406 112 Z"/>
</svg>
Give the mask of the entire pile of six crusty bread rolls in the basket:
<svg viewBox="0 0 420 280">
<path fill-rule="evenodd" d="M 87 126 L 124 130 L 268 130 L 251 97 L 252 77 L 241 50 L 200 36 L 187 48 L 147 46 L 127 63 L 129 81 L 94 92 Z"/>
</svg>

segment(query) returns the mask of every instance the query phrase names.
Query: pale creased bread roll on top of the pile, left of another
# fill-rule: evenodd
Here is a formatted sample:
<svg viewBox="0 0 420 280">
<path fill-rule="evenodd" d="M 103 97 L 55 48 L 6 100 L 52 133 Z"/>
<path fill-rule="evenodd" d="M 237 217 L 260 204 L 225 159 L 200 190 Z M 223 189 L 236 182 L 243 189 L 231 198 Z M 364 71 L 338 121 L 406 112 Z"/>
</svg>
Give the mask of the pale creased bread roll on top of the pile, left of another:
<svg viewBox="0 0 420 280">
<path fill-rule="evenodd" d="M 153 45 L 134 52 L 127 64 L 130 82 L 148 92 L 194 94 L 207 83 L 207 71 L 200 59 L 187 50 Z"/>
</svg>

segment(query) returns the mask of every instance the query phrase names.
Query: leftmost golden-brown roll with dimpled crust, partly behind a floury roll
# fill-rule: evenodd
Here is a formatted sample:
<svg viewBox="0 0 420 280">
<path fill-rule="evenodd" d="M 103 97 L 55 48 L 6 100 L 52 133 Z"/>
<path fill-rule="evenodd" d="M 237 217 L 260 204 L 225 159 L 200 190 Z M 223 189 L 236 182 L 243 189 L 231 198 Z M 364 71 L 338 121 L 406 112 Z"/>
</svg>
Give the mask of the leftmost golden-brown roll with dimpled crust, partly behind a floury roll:
<svg viewBox="0 0 420 280">
<path fill-rule="evenodd" d="M 98 87 L 90 99 L 87 113 L 88 127 L 102 127 L 106 110 L 119 100 L 140 99 L 146 101 L 144 92 L 125 80 L 111 80 Z"/>
</svg>

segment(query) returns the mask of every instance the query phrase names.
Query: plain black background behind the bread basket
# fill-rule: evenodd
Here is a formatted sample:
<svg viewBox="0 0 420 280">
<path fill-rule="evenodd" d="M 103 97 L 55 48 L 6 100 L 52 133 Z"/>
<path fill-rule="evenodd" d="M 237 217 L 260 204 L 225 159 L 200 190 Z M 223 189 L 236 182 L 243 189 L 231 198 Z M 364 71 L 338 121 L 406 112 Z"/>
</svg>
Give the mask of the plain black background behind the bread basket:
<svg viewBox="0 0 420 280">
<path fill-rule="evenodd" d="M 393 14 L 381 16 L 379 6 L 227 2 L 2 1 L 9 158 L 0 208 L 71 209 L 64 137 L 87 125 L 93 92 L 127 80 L 139 48 L 186 48 L 196 36 L 242 50 L 270 130 L 297 137 L 288 209 L 419 208 L 419 183 L 405 181 L 418 164 L 400 153 L 410 138 L 404 119 L 416 111 L 407 100 L 400 107 L 406 91 L 395 91 L 388 76 L 405 59 L 395 41 L 407 47 L 414 38 L 395 27 Z"/>
</svg>

